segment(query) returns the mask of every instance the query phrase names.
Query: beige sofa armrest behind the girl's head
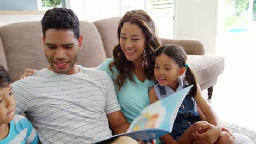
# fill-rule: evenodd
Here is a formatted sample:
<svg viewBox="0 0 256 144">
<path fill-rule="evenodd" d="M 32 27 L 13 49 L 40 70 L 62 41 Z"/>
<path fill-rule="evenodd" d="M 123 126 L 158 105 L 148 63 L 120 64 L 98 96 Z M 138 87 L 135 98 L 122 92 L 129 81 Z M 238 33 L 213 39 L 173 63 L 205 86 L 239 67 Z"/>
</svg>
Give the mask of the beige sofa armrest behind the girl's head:
<svg viewBox="0 0 256 144">
<path fill-rule="evenodd" d="M 200 40 L 190 39 L 164 39 L 160 38 L 162 45 L 178 44 L 181 45 L 188 55 L 205 55 L 205 45 Z"/>
</svg>

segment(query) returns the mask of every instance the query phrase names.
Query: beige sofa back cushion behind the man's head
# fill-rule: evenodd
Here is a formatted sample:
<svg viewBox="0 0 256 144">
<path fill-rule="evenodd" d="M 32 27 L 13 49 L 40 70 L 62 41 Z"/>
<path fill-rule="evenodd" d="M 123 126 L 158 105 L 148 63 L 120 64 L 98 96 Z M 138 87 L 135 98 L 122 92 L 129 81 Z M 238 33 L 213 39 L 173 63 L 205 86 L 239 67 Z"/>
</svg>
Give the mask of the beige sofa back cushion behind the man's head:
<svg viewBox="0 0 256 144">
<path fill-rule="evenodd" d="M 95 67 L 106 59 L 100 33 L 94 24 L 85 21 L 80 22 L 80 32 L 84 39 L 77 64 Z M 19 80 L 26 68 L 39 70 L 47 67 L 40 21 L 5 25 L 0 27 L 0 33 L 13 82 Z M 1 49 L 0 52 L 4 53 Z M 1 54 L 1 64 L 5 56 Z"/>
</svg>

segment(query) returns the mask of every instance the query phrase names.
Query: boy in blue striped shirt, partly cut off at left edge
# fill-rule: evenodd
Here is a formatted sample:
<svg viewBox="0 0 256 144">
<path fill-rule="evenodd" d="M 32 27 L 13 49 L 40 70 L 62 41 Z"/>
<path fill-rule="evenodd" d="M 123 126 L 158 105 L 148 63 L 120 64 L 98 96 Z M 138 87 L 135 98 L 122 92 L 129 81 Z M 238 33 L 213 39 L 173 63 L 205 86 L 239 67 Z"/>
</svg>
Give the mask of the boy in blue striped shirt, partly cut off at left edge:
<svg viewBox="0 0 256 144">
<path fill-rule="evenodd" d="M 0 144 L 39 143 L 33 125 L 22 115 L 14 115 L 15 100 L 10 74 L 0 66 Z"/>
</svg>

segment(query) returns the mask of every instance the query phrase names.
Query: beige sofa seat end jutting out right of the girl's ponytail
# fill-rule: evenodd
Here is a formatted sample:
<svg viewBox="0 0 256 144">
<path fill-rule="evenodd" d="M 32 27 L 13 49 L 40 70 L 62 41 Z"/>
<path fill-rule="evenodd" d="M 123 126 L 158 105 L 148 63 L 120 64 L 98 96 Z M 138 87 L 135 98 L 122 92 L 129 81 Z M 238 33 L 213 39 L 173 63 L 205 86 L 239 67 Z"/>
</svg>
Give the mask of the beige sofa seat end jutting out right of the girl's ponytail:
<svg viewBox="0 0 256 144">
<path fill-rule="evenodd" d="M 197 76 L 201 89 L 211 86 L 203 86 L 204 83 L 214 80 L 212 86 L 216 83 L 217 77 L 224 71 L 224 58 L 211 55 L 188 55 L 187 63 Z M 202 87 L 203 86 L 203 87 Z"/>
</svg>

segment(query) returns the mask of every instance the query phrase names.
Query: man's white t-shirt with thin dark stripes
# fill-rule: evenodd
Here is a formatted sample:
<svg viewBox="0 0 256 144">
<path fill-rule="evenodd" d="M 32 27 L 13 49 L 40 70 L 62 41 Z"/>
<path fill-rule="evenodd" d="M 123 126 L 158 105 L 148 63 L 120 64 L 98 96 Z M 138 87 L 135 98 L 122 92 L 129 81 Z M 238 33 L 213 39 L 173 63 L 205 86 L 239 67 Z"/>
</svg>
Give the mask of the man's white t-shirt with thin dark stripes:
<svg viewBox="0 0 256 144">
<path fill-rule="evenodd" d="M 13 83 L 16 112 L 25 112 L 42 143 L 91 143 L 111 136 L 106 114 L 120 110 L 103 71 L 79 66 L 74 75 L 48 69 Z"/>
</svg>

